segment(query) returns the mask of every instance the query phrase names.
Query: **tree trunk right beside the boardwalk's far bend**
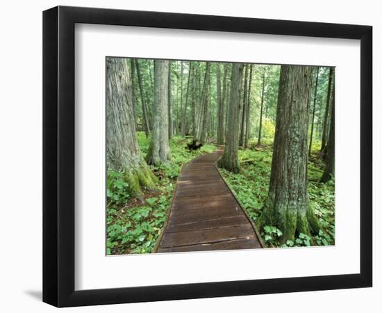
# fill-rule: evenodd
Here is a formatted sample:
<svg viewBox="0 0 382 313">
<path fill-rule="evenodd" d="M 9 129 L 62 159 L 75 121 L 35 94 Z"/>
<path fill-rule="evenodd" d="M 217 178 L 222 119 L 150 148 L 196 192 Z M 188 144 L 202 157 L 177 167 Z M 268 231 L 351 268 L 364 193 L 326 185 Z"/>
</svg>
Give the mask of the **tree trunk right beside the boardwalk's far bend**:
<svg viewBox="0 0 382 313">
<path fill-rule="evenodd" d="M 231 172 L 239 172 L 239 133 L 238 126 L 240 120 L 240 93 L 242 92 L 242 75 L 244 65 L 242 63 L 233 63 L 231 74 L 231 93 L 229 99 L 229 122 L 227 125 L 226 145 L 222 158 L 218 161 L 218 166 L 230 170 Z"/>
</svg>

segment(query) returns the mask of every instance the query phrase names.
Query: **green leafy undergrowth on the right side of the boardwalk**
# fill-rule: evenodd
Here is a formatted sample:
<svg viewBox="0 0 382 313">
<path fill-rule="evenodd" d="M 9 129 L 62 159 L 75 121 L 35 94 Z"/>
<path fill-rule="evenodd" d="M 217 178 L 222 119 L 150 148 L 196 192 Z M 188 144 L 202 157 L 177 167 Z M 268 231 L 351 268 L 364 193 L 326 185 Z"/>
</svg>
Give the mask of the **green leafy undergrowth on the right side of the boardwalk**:
<svg viewBox="0 0 382 313">
<path fill-rule="evenodd" d="M 251 149 L 239 150 L 240 173 L 233 174 L 220 168 L 220 172 L 231 190 L 237 196 L 249 217 L 256 223 L 267 198 L 269 177 L 272 165 L 272 143 L 265 141 L 260 147 L 249 143 Z M 335 243 L 334 182 L 319 182 L 324 171 L 324 162 L 319 158 L 320 143 L 313 143 L 308 162 L 308 193 L 310 205 L 321 226 L 319 234 L 313 238 L 308 234 L 299 234 L 294 241 L 283 245 L 281 230 L 272 225 L 265 225 L 260 230 L 268 248 L 293 246 L 329 246 Z"/>
</svg>

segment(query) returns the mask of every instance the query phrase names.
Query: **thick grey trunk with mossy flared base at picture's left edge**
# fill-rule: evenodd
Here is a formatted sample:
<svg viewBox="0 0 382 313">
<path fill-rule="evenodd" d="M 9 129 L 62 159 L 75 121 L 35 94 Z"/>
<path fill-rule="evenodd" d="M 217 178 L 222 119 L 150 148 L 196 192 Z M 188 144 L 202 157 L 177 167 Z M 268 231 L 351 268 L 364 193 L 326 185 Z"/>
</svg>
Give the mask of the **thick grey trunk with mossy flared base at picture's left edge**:
<svg viewBox="0 0 382 313">
<path fill-rule="evenodd" d="M 132 195 L 153 188 L 156 177 L 140 154 L 133 122 L 128 59 L 106 58 L 106 164 L 124 173 Z"/>
</svg>

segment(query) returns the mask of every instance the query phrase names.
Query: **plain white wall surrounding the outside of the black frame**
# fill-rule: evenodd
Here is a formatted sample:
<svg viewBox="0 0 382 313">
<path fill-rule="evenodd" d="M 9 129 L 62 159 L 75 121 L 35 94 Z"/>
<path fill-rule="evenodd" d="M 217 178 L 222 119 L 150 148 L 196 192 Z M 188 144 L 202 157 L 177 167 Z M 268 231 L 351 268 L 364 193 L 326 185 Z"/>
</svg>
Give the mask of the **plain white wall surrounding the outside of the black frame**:
<svg viewBox="0 0 382 313">
<path fill-rule="evenodd" d="M 42 290 L 42 10 L 56 6 L 88 6 L 127 10 L 153 10 L 210 15 L 231 15 L 310 22 L 373 25 L 374 104 L 381 99 L 381 3 L 374 0 L 36 0 L 4 1 L 1 10 L 0 154 L 2 205 L 0 227 L 3 249 L 0 266 L 2 312 L 57 312 L 41 302 Z M 16 83 L 17 82 L 17 83 Z M 22 86 L 22 89 L 21 89 Z M 22 90 L 22 92 L 20 92 Z M 374 106 L 374 159 L 382 157 L 381 106 Z M 17 118 L 16 118 L 17 117 Z M 349 156 L 351 157 L 351 156 Z M 374 163 L 374 206 L 381 207 L 379 162 Z M 22 193 L 21 193 L 22 191 Z M 351 197 L 351 194 L 349 194 Z M 374 264 L 381 264 L 381 210 L 374 211 Z M 378 243 L 378 244 L 376 244 Z M 256 264 L 253 264 L 256 266 Z M 151 271 L 150 271 L 151 273 Z M 343 289 L 294 294 L 208 298 L 97 307 L 67 308 L 65 312 L 262 312 L 294 313 L 381 311 L 382 275 L 374 266 L 372 289 Z"/>
</svg>

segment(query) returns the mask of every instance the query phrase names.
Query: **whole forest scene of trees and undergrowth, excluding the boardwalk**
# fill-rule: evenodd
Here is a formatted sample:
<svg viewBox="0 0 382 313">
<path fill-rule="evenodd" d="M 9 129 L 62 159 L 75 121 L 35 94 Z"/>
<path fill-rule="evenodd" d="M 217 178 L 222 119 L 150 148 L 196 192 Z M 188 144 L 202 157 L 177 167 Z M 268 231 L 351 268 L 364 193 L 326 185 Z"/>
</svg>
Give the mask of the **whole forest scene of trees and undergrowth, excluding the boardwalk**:
<svg viewBox="0 0 382 313">
<path fill-rule="evenodd" d="M 334 103 L 333 67 L 107 58 L 107 253 L 151 252 L 216 145 L 268 247 L 333 244 Z"/>
</svg>

